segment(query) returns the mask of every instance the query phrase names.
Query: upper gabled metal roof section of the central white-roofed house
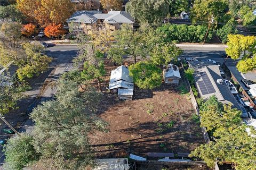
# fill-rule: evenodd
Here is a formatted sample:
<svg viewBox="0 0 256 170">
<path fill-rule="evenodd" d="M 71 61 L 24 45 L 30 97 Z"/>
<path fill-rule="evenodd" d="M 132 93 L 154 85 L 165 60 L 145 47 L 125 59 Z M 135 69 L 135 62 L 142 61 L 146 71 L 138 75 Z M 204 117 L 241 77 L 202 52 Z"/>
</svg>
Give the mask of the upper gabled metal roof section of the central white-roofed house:
<svg viewBox="0 0 256 170">
<path fill-rule="evenodd" d="M 129 70 L 126 66 L 121 65 L 117 69 L 111 71 L 110 82 L 118 80 L 125 80 L 127 82 L 133 82 L 133 79 L 129 75 Z"/>
</svg>

